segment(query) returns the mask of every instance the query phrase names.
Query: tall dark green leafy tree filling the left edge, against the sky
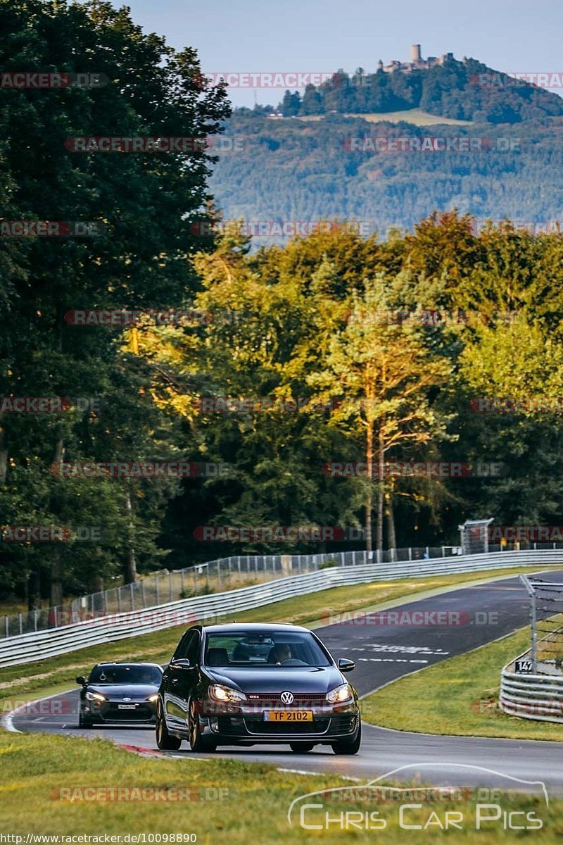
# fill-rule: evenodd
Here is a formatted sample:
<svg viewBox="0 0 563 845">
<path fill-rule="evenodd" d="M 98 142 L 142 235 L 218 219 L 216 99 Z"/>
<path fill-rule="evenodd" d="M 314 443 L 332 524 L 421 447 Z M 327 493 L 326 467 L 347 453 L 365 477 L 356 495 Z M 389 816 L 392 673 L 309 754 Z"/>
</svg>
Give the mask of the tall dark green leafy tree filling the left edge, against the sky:
<svg viewBox="0 0 563 845">
<path fill-rule="evenodd" d="M 1 0 L 0 30 L 5 73 L 51 69 L 107 79 L 100 88 L 4 89 L 0 103 L 8 219 L 105 226 L 100 237 L 35 237 L 23 245 L 3 237 L 1 244 L 0 395 L 107 400 L 100 412 L 0 417 L 0 498 L 8 509 L 0 512 L 0 522 L 75 524 L 89 513 L 106 528 L 108 539 L 98 549 L 75 544 L 40 554 L 10 548 L 9 579 L 27 589 L 28 581 L 46 578 L 51 600 L 58 601 L 65 583 L 87 585 L 121 567 L 134 577 L 133 546 L 123 538 L 133 525 L 137 555 L 152 559 L 166 498 L 162 488 L 151 493 L 148 483 L 129 485 L 129 508 L 120 482 L 73 484 L 50 472 L 51 463 L 63 458 L 163 454 L 159 438 L 167 429 L 158 406 L 139 389 L 133 357 L 120 350 L 121 330 L 73 326 L 65 314 L 83 308 L 162 310 L 193 296 L 198 281 L 191 256 L 206 242 L 192 221 L 208 199 L 206 181 L 215 161 L 203 139 L 219 132 L 230 108 L 223 86 L 203 89 L 191 48 L 176 52 L 160 36 L 144 34 L 127 8 L 97 0 Z M 82 135 L 194 142 L 182 154 L 80 153 L 65 145 Z M 113 390 L 116 383 L 121 392 Z M 127 419 L 126 408 L 138 412 Z M 174 454 L 171 444 L 167 451 Z M 167 492 L 170 498 L 173 491 Z M 151 514 L 151 532 L 135 530 L 143 509 Z M 1 554 L 4 559 L 5 548 Z"/>
</svg>

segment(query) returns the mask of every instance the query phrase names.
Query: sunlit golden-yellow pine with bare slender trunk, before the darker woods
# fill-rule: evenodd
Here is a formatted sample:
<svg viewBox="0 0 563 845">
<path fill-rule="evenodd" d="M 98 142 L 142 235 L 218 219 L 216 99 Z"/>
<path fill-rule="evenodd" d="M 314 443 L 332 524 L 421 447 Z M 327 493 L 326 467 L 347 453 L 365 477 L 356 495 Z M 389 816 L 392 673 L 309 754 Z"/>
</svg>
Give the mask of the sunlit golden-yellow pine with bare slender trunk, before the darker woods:
<svg viewBox="0 0 563 845">
<path fill-rule="evenodd" d="M 322 369 L 309 381 L 319 395 L 339 399 L 333 423 L 350 439 L 365 441 L 365 542 L 372 548 L 373 490 L 376 489 L 376 548 L 383 548 L 386 477 L 392 453 L 404 461 L 420 444 L 444 437 L 447 420 L 436 412 L 430 390 L 443 383 L 450 365 L 432 357 L 416 328 L 390 325 L 392 285 L 382 275 L 365 281 L 349 301 L 349 320 L 334 333 Z M 383 317 L 383 319 L 382 319 Z"/>
</svg>

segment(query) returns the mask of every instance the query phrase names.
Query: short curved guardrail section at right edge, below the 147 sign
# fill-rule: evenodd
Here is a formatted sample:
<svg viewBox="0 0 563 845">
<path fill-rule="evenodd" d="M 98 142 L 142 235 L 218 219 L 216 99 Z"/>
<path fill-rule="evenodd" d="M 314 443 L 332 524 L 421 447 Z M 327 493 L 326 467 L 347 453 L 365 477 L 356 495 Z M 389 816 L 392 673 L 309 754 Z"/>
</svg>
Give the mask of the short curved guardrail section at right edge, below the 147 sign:
<svg viewBox="0 0 563 845">
<path fill-rule="evenodd" d="M 508 716 L 563 724 L 563 676 L 514 672 L 515 662 L 529 654 L 525 651 L 502 669 L 501 710 Z"/>
</svg>

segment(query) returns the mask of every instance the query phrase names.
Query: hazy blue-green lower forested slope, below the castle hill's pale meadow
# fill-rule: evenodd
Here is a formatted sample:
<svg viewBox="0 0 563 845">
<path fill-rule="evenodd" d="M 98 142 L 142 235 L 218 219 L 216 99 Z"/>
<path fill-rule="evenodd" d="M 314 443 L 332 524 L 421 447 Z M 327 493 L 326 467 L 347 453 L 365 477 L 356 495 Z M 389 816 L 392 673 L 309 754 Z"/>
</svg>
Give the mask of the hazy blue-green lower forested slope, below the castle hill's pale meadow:
<svg viewBox="0 0 563 845">
<path fill-rule="evenodd" d="M 537 231 L 544 221 L 561 220 L 560 117 L 421 127 L 338 114 L 315 121 L 235 113 L 226 135 L 238 149 L 219 156 L 210 183 L 226 221 L 338 219 L 385 234 L 391 226 L 412 230 L 436 209 L 457 208 L 478 220 L 508 217 Z M 458 139 L 460 148 L 479 141 L 478 149 L 391 149 L 394 139 L 435 136 Z M 378 139 L 387 150 L 376 148 Z M 268 226 L 265 232 L 255 245 L 275 240 Z"/>
</svg>

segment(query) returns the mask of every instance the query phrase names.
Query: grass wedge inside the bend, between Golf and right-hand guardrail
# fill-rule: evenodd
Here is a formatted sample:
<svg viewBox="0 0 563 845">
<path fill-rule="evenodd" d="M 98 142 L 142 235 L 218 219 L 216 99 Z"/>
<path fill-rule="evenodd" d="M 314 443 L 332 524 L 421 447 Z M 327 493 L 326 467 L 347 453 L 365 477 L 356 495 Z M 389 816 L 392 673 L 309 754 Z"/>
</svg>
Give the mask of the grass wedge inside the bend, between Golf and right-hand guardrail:
<svg viewBox="0 0 563 845">
<path fill-rule="evenodd" d="M 362 717 L 415 733 L 563 741 L 563 725 L 506 716 L 498 705 L 501 668 L 525 651 L 529 640 L 529 628 L 523 628 L 394 681 L 362 701 Z"/>
</svg>

